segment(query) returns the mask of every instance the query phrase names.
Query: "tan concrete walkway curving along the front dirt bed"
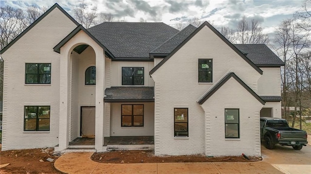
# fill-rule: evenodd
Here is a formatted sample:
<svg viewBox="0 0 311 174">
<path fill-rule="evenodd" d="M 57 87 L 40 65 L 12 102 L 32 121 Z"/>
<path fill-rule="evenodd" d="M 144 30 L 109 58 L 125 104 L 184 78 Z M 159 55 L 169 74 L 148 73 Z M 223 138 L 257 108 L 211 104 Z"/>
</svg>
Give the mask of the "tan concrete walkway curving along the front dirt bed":
<svg viewBox="0 0 311 174">
<path fill-rule="evenodd" d="M 92 161 L 92 154 L 66 153 L 54 167 L 65 174 L 283 174 L 265 161 L 106 164 Z"/>
</svg>

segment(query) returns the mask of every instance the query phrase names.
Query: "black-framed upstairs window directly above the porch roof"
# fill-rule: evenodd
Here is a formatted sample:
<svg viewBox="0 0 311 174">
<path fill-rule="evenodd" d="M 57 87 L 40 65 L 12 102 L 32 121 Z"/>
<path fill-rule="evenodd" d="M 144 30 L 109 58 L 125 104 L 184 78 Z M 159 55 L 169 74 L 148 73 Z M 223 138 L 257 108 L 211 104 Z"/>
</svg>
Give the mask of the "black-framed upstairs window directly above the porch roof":
<svg viewBox="0 0 311 174">
<path fill-rule="evenodd" d="M 122 85 L 144 85 L 144 67 L 122 67 Z"/>
</svg>

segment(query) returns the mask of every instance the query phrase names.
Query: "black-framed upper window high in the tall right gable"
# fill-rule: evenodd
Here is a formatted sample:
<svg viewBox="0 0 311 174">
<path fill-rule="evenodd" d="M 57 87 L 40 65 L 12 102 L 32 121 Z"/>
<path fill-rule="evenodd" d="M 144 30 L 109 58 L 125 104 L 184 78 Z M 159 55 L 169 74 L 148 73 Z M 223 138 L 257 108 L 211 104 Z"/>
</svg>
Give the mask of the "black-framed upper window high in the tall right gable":
<svg viewBox="0 0 311 174">
<path fill-rule="evenodd" d="M 199 82 L 213 82 L 213 60 L 199 59 L 198 80 Z"/>
</svg>

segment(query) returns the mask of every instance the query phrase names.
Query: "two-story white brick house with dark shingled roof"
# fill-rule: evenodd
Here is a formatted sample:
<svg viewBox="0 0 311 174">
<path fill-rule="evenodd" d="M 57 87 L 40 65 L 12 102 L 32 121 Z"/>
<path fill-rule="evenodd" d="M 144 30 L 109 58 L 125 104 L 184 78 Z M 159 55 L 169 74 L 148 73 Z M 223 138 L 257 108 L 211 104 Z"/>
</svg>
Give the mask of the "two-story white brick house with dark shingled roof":
<svg viewBox="0 0 311 174">
<path fill-rule="evenodd" d="M 62 151 L 90 137 L 80 147 L 106 151 L 112 137 L 149 136 L 156 155 L 260 156 L 259 117 L 281 114 L 284 63 L 207 22 L 85 29 L 55 4 L 0 54 L 2 150 Z"/>
</svg>

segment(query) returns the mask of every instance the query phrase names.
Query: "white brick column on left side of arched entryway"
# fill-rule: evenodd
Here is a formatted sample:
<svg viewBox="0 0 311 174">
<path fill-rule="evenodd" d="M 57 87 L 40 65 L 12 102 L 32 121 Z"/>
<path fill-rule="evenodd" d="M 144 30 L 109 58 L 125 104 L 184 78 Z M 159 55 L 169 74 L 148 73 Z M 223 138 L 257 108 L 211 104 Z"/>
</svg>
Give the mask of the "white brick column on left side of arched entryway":
<svg viewBox="0 0 311 174">
<path fill-rule="evenodd" d="M 59 146 L 55 151 L 67 149 L 69 145 L 69 71 L 70 58 L 68 51 L 60 54 L 60 97 L 59 97 Z"/>
</svg>

